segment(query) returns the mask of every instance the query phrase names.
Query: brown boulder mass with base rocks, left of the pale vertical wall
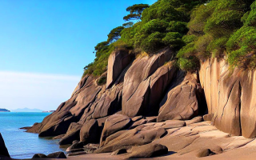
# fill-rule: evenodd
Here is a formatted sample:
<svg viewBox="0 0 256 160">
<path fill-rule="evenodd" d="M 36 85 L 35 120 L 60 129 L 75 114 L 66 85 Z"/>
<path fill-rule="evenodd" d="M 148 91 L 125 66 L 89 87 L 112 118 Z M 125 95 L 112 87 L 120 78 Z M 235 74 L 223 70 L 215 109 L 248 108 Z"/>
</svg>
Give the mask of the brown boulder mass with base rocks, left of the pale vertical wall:
<svg viewBox="0 0 256 160">
<path fill-rule="evenodd" d="M 27 131 L 62 138 L 60 145 L 73 143 L 69 155 L 96 149 L 95 153 L 126 151 L 126 158 L 166 154 L 165 146 L 151 142 L 166 136 L 167 130 L 201 122 L 202 117 L 185 120 L 206 111 L 203 90 L 198 74 L 175 67 L 170 48 L 136 57 L 126 50 L 114 51 L 100 77 L 106 84 L 86 75 L 69 100 Z M 90 143 L 99 144 L 90 148 Z"/>
</svg>

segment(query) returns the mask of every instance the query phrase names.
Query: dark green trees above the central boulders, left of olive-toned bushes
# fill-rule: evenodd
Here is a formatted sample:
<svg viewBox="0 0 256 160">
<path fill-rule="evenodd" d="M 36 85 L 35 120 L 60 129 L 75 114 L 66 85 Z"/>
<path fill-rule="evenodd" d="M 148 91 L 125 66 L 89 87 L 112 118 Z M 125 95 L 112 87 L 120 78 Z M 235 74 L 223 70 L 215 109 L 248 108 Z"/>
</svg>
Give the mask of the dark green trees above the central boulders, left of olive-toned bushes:
<svg viewBox="0 0 256 160">
<path fill-rule="evenodd" d="M 95 46 L 96 58 L 85 67 L 85 74 L 99 76 L 106 71 L 107 59 L 115 48 L 142 50 L 147 54 L 165 46 L 179 50 L 186 42 L 182 39 L 187 34 L 187 23 L 191 10 L 206 0 L 158 0 L 153 5 L 135 4 L 129 6 L 126 22 L 110 31 L 106 42 Z"/>
</svg>

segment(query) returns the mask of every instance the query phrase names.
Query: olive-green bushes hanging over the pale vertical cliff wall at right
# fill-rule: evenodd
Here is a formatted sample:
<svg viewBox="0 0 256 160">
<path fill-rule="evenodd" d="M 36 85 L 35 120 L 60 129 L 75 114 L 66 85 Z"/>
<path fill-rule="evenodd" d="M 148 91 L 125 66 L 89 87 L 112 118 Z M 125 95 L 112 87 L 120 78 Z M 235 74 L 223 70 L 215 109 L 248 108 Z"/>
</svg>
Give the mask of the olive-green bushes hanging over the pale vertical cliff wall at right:
<svg viewBox="0 0 256 160">
<path fill-rule="evenodd" d="M 255 2 L 253 0 L 212 0 L 194 9 L 183 37 L 186 46 L 178 51 L 179 66 L 198 69 L 194 58 L 227 55 L 230 66 L 255 67 Z M 187 68 L 187 64 L 191 64 Z M 193 65 L 194 64 L 194 65 Z"/>
</svg>

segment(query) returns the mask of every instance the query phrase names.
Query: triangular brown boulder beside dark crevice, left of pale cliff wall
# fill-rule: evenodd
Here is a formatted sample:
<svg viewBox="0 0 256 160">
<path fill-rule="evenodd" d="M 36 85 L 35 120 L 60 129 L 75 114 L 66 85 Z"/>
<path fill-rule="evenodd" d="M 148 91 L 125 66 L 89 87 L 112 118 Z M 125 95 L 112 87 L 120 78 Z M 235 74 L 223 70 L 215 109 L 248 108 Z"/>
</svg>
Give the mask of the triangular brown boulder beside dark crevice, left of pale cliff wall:
<svg viewBox="0 0 256 160">
<path fill-rule="evenodd" d="M 165 120 L 189 120 L 198 115 L 198 82 L 196 74 L 179 72 L 175 82 L 160 104 L 158 122 Z"/>
</svg>

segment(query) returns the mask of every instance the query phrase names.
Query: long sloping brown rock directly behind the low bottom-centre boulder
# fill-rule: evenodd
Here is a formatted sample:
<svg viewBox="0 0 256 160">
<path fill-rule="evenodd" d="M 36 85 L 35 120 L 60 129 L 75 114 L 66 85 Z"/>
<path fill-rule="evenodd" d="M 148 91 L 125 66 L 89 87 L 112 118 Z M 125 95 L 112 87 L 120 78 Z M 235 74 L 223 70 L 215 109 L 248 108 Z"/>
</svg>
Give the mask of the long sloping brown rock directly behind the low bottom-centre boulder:
<svg viewBox="0 0 256 160">
<path fill-rule="evenodd" d="M 162 127 L 138 126 L 133 130 L 121 130 L 106 138 L 106 142 L 95 153 L 113 152 L 118 149 L 129 150 L 132 146 L 142 146 L 162 138 L 166 130 Z"/>
</svg>

